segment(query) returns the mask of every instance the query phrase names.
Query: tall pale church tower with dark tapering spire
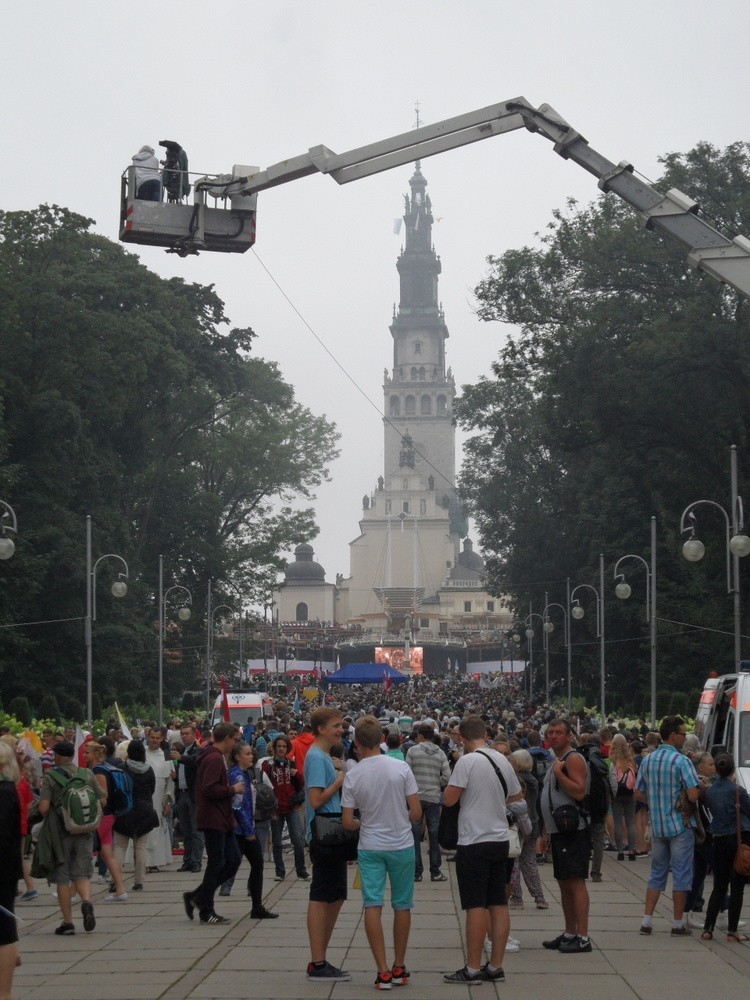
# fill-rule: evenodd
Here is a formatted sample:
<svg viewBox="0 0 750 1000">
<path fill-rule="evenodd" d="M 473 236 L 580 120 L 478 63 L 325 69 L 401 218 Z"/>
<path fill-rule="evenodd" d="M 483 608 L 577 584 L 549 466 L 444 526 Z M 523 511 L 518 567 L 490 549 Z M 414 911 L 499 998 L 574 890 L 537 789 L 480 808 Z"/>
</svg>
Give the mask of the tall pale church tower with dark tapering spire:
<svg viewBox="0 0 750 1000">
<path fill-rule="evenodd" d="M 441 265 L 419 162 L 409 187 L 396 263 L 400 301 L 390 326 L 393 364 L 383 379 L 383 474 L 362 498 L 361 533 L 350 543 L 350 576 L 339 580 L 337 609 L 339 621 L 385 618 L 397 627 L 431 608 L 437 617 L 439 592 L 466 533 L 454 487 L 456 387 L 445 366 Z"/>
</svg>

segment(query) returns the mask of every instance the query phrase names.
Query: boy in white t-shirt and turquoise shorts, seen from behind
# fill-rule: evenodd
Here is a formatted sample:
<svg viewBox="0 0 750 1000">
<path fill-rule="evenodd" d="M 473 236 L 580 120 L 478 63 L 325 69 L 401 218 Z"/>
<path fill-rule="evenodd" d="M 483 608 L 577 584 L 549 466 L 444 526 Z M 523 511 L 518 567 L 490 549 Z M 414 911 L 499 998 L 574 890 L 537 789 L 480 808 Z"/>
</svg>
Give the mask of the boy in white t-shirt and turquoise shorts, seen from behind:
<svg viewBox="0 0 750 1000">
<path fill-rule="evenodd" d="M 372 715 L 357 720 L 354 742 L 359 763 L 346 776 L 341 792 L 341 821 L 359 830 L 359 871 L 365 931 L 378 966 L 377 989 L 409 982 L 406 945 L 414 905 L 414 838 L 412 823 L 422 818 L 419 790 L 405 761 L 380 753 L 382 731 Z M 354 816 L 359 809 L 360 819 Z M 394 961 L 385 957 L 383 900 L 386 878 L 391 886 Z"/>
</svg>

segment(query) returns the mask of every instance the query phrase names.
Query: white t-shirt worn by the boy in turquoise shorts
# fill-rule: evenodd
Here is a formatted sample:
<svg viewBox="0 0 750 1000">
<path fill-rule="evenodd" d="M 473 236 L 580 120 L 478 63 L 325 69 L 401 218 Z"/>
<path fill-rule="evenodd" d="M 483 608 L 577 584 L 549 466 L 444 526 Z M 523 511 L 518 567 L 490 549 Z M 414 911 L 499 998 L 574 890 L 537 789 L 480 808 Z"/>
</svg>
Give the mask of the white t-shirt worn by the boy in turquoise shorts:
<svg viewBox="0 0 750 1000">
<path fill-rule="evenodd" d="M 382 754 L 363 757 L 347 773 L 341 789 L 341 808 L 360 811 L 360 851 L 413 847 L 406 797 L 417 794 L 417 782 L 405 761 Z"/>
</svg>

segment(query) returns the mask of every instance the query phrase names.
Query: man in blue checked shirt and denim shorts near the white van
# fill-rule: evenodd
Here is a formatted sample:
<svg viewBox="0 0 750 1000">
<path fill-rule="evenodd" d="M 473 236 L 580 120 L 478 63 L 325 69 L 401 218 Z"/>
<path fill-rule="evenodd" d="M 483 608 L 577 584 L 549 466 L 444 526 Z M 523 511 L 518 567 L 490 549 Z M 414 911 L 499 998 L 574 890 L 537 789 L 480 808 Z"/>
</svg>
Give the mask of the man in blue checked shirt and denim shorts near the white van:
<svg viewBox="0 0 750 1000">
<path fill-rule="evenodd" d="M 666 889 L 672 870 L 672 936 L 684 937 L 690 928 L 683 923 L 685 900 L 693 881 L 694 835 L 679 808 L 680 793 L 689 802 L 698 801 L 699 781 L 692 761 L 682 754 L 687 735 L 685 721 L 668 715 L 659 727 L 662 745 L 643 758 L 635 794 L 648 803 L 651 821 L 651 874 L 646 889 L 646 907 L 641 934 L 651 934 L 652 918 L 659 896 Z"/>
</svg>

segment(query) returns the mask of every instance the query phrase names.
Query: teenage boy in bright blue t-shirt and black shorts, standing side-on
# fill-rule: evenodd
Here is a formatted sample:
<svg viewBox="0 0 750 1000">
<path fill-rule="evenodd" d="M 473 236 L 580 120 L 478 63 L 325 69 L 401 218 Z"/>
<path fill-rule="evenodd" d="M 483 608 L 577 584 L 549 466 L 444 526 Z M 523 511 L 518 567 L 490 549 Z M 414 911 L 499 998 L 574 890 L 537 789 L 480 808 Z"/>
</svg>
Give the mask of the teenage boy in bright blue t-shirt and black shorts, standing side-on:
<svg viewBox="0 0 750 1000">
<path fill-rule="evenodd" d="M 316 812 L 341 812 L 340 789 L 344 783 L 341 760 L 331 757 L 331 747 L 341 741 L 344 721 L 335 708 L 317 708 L 310 717 L 315 742 L 305 756 L 305 818 L 307 842 L 310 824 Z M 317 855 L 310 845 L 312 879 L 310 901 L 307 904 L 307 935 L 310 939 L 310 961 L 307 978 L 326 982 L 347 982 L 351 974 L 326 961 L 328 943 L 336 926 L 339 911 L 346 899 L 346 861 L 329 861 Z"/>
</svg>

